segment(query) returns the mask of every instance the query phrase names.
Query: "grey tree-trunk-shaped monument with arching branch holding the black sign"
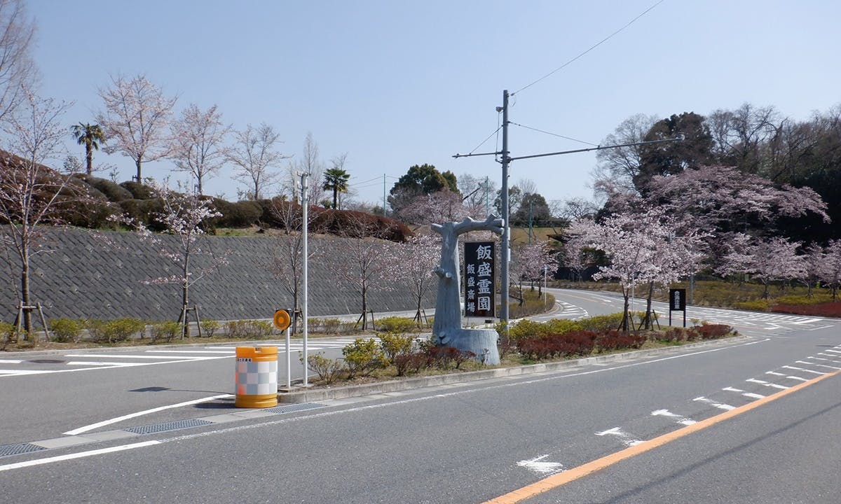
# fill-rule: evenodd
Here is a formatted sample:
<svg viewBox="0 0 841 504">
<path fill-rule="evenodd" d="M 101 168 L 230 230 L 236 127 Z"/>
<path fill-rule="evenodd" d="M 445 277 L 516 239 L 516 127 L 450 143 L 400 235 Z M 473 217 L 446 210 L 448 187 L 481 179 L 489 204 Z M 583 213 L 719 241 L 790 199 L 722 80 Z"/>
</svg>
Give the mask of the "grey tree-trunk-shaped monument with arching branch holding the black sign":
<svg viewBox="0 0 841 504">
<path fill-rule="evenodd" d="M 496 348 L 495 329 L 462 328 L 461 275 L 458 261 L 458 235 L 470 231 L 492 231 L 502 234 L 504 222 L 491 215 L 484 221 L 465 218 L 460 223 L 432 224 L 432 230 L 441 235 L 441 265 L 435 269 L 438 276 L 438 298 L 435 304 L 435 323 L 432 333 L 438 344 L 471 351 L 485 364 L 500 364 Z M 505 253 L 505 252 L 503 252 Z"/>
</svg>

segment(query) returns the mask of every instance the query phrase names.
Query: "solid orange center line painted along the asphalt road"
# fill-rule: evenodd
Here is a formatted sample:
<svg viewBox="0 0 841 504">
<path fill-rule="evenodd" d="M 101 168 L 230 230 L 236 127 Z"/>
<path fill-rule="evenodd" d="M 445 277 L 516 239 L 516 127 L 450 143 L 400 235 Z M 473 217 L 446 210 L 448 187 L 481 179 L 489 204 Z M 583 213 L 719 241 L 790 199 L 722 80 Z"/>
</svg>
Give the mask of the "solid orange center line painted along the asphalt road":
<svg viewBox="0 0 841 504">
<path fill-rule="evenodd" d="M 742 413 L 749 412 L 757 407 L 763 406 L 772 401 L 776 401 L 780 399 L 780 397 L 788 396 L 789 394 L 793 394 L 796 391 L 800 391 L 801 389 L 806 388 L 807 386 L 811 386 L 816 384 L 818 381 L 825 380 L 832 376 L 838 375 L 841 373 L 841 370 L 833 371 L 828 375 L 821 375 L 817 378 L 813 378 L 810 381 L 804 381 L 799 385 L 792 386 L 785 391 L 779 391 L 771 396 L 763 397 L 754 402 L 749 402 L 744 406 L 737 407 L 735 409 L 729 410 L 727 412 L 723 412 L 715 417 L 706 418 L 706 420 L 701 420 L 700 422 L 693 423 L 692 425 L 686 426 L 684 428 L 679 428 L 673 432 L 665 433 L 662 436 L 658 436 L 657 438 L 649 439 L 648 441 L 644 441 L 641 444 L 637 444 L 627 449 L 622 449 L 614 454 L 606 455 L 600 459 L 592 460 L 584 465 L 579 465 L 570 470 L 563 471 L 561 473 L 548 476 L 542 480 L 539 480 L 531 485 L 523 486 L 515 491 L 510 491 L 505 495 L 495 497 L 489 501 L 485 501 L 482 504 L 514 504 L 515 502 L 525 501 L 533 496 L 537 496 L 538 494 L 542 494 L 545 491 L 550 491 L 553 488 L 558 488 L 558 486 L 566 485 L 567 483 L 578 480 L 579 478 L 583 478 L 586 475 L 590 475 L 597 470 L 605 469 L 606 467 L 610 467 L 611 465 L 615 465 L 622 460 L 630 459 L 632 457 L 636 457 L 638 454 L 644 454 L 652 449 L 658 448 L 659 446 L 663 446 L 664 444 L 671 443 L 680 438 L 685 438 L 691 433 L 696 433 L 701 429 L 705 429 L 716 425 L 717 423 L 722 423 L 725 420 L 733 417 L 737 417 Z"/>
</svg>

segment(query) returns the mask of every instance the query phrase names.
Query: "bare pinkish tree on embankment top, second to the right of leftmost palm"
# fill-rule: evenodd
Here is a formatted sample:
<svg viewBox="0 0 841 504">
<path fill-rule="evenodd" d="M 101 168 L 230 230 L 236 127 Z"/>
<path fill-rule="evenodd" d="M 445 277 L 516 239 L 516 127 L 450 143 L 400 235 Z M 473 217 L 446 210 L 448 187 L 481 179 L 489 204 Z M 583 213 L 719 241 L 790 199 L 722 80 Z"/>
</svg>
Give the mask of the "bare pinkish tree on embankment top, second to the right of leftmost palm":
<svg viewBox="0 0 841 504">
<path fill-rule="evenodd" d="M 190 103 L 172 124 L 172 159 L 177 170 L 187 171 L 196 179 L 198 194 L 204 194 L 202 181 L 217 175 L 225 165 L 224 143 L 229 132 L 230 126 L 222 123 L 216 105 L 202 111 Z"/>
</svg>

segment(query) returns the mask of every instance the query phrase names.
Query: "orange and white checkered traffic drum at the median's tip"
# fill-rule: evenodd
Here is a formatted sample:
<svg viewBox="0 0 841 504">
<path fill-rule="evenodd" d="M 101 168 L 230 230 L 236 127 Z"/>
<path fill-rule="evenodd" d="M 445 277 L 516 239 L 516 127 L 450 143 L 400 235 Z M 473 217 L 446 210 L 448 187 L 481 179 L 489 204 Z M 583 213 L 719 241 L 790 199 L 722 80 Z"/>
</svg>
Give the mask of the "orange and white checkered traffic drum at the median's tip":
<svg viewBox="0 0 841 504">
<path fill-rule="evenodd" d="M 278 406 L 278 347 L 236 347 L 236 407 Z"/>
</svg>

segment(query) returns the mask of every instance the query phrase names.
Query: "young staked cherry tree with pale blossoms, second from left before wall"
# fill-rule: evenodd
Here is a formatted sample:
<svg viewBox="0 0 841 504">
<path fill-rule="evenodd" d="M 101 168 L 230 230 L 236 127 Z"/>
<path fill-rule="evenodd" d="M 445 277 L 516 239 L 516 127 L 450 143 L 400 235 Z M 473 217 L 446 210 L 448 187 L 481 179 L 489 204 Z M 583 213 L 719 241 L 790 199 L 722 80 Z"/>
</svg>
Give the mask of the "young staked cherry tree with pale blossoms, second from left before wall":
<svg viewBox="0 0 841 504">
<path fill-rule="evenodd" d="M 163 207 L 161 212 L 153 213 L 151 218 L 165 228 L 165 234 L 174 236 L 176 238 L 174 241 L 161 239 L 152 234 L 140 221 L 128 217 L 122 219 L 135 227 L 142 239 L 155 246 L 161 258 L 177 267 L 176 274 L 158 276 L 144 283 L 181 286 L 181 311 L 178 322 L 182 323 L 182 337 L 189 336 L 188 312 L 193 309 L 189 307 L 190 287 L 228 262 L 226 253 L 217 255 L 212 250 L 203 249 L 199 242 L 204 235 L 202 223 L 206 219 L 220 217 L 222 214 L 213 209 L 209 198 L 202 197 L 198 192 L 176 192 L 170 189 L 166 182 L 156 181 L 151 181 L 151 191 L 155 197 L 160 198 Z M 193 265 L 197 255 L 207 258 L 201 267 Z"/>
</svg>

